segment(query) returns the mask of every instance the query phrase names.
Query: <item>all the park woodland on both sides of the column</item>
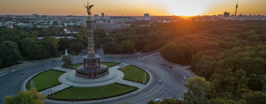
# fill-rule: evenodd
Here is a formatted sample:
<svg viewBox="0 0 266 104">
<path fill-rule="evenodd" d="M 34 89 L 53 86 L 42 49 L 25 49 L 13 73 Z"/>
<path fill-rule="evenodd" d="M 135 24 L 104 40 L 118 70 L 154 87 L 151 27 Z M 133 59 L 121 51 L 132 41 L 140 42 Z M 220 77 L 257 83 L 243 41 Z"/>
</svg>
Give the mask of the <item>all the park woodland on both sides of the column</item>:
<svg viewBox="0 0 266 104">
<path fill-rule="evenodd" d="M 61 34 L 64 28 L 79 32 Z M 85 30 L 85 26 L 22 28 L 15 25 L 14 29 L 1 26 L 0 58 L 13 61 L 4 64 L 12 66 L 21 60 L 21 56 L 32 61 L 53 58 L 59 57 L 58 51 L 64 49 L 77 55 L 87 46 Z M 260 97 L 266 92 L 266 21 L 153 23 L 112 30 L 107 36 L 105 30 L 96 28 L 93 34 L 95 48 L 103 44 L 106 54 L 159 49 L 168 61 L 191 65 L 190 70 L 210 83 L 210 91 L 206 90 L 208 94 L 204 97 L 187 93 L 193 103 L 241 103 L 244 100 L 250 103 L 250 98 L 265 102 Z M 57 39 L 54 36 L 73 36 L 76 39 Z"/>
</svg>

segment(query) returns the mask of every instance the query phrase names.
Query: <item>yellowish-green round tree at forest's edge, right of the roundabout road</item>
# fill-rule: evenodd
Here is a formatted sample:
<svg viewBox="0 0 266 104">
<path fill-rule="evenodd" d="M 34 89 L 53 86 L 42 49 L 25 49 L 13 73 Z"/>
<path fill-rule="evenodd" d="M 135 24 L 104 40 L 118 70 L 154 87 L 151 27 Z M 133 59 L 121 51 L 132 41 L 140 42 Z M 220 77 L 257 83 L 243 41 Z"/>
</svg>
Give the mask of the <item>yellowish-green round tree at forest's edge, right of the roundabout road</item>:
<svg viewBox="0 0 266 104">
<path fill-rule="evenodd" d="M 200 76 L 194 76 L 194 78 L 187 79 L 187 82 L 184 83 L 185 87 L 188 88 L 188 91 L 192 91 L 195 97 L 201 97 L 203 92 L 210 91 L 210 82 L 206 81 L 205 78 Z"/>
</svg>

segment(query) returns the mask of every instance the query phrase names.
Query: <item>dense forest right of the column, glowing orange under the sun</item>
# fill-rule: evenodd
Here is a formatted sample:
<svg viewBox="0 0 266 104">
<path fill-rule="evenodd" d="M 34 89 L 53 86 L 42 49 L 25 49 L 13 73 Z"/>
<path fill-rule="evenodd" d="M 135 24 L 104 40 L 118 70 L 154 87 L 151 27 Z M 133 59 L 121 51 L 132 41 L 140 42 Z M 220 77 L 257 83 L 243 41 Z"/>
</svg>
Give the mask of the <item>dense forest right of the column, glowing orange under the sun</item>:
<svg viewBox="0 0 266 104">
<path fill-rule="evenodd" d="M 213 95 L 226 92 L 237 101 L 244 93 L 266 91 L 266 21 L 154 23 L 113 30 L 102 43 L 106 54 L 134 52 L 134 45 L 137 51 L 160 48 L 163 58 L 191 65 L 190 70 L 210 81 Z"/>
</svg>

